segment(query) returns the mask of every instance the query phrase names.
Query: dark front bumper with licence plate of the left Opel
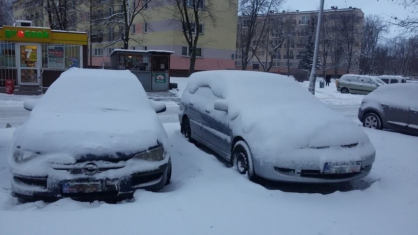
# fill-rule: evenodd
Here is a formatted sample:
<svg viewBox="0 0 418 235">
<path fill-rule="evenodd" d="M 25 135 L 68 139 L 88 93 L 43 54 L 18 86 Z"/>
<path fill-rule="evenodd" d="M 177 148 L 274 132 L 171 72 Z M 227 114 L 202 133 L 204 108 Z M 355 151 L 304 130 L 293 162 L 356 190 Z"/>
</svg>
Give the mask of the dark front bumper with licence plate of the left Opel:
<svg viewBox="0 0 418 235">
<path fill-rule="evenodd" d="M 125 174 L 121 173 L 121 169 L 99 172 L 94 176 L 69 172 L 62 174 L 61 170 L 52 170 L 46 176 L 12 172 L 11 184 L 16 196 L 31 201 L 52 201 L 64 197 L 88 200 L 122 199 L 131 197 L 136 189 L 159 190 L 166 183 L 167 170 L 168 163 L 164 162 L 153 170 L 129 171 Z M 69 192 L 69 184 L 77 188 Z M 100 189 L 91 190 L 86 187 Z"/>
</svg>

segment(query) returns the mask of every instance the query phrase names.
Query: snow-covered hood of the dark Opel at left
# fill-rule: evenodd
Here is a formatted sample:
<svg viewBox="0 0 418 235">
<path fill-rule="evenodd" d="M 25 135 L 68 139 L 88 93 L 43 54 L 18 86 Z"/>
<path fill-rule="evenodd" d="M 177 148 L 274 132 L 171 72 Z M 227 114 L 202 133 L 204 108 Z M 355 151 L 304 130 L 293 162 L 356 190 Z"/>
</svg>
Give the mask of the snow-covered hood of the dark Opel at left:
<svg viewBox="0 0 418 235">
<path fill-rule="evenodd" d="M 48 155 L 115 156 L 165 144 L 167 134 L 154 112 L 100 110 L 53 113 L 33 110 L 14 134 L 13 147 Z"/>
</svg>

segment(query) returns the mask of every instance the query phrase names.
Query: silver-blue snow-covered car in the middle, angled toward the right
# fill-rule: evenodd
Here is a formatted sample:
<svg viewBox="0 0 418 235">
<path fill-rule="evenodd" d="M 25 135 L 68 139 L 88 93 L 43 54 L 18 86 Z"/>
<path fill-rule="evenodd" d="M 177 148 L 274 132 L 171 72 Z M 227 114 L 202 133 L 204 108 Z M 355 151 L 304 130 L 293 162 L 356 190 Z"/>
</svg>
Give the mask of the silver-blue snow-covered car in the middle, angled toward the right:
<svg viewBox="0 0 418 235">
<path fill-rule="evenodd" d="M 185 137 L 250 180 L 351 181 L 369 174 L 375 159 L 361 127 L 281 75 L 194 73 L 180 100 L 179 120 Z"/>
</svg>

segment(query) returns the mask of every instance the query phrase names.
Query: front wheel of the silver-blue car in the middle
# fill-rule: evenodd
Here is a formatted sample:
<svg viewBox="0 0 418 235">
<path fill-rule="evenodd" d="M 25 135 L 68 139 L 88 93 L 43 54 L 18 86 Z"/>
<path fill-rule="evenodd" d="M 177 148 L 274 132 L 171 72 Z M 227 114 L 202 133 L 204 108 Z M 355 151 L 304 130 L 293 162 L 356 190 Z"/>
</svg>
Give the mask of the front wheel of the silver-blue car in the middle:
<svg viewBox="0 0 418 235">
<path fill-rule="evenodd" d="M 238 172 L 242 175 L 247 174 L 248 179 L 254 181 L 256 175 L 254 173 L 253 157 L 248 144 L 242 140 L 236 142 L 232 155 Z"/>
</svg>

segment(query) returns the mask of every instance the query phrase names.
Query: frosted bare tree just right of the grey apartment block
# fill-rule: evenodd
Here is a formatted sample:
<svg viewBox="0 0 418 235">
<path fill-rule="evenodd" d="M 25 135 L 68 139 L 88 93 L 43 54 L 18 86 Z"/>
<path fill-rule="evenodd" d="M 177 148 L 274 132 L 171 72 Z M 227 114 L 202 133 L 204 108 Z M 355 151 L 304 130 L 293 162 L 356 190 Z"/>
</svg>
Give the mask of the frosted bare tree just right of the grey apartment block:
<svg viewBox="0 0 418 235">
<path fill-rule="evenodd" d="M 360 72 L 371 75 L 375 66 L 376 47 L 388 25 L 377 15 L 368 15 L 363 26 L 362 56 L 360 58 Z"/>
</svg>

